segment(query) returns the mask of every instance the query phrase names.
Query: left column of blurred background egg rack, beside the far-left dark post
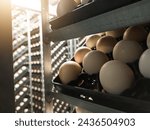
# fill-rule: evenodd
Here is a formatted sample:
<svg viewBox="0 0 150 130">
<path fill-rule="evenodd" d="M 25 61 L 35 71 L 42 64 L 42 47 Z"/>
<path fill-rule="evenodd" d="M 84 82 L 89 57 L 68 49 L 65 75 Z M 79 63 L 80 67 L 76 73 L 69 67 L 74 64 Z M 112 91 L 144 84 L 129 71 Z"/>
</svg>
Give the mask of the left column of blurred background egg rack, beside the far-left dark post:
<svg viewBox="0 0 150 130">
<path fill-rule="evenodd" d="M 25 10 L 13 7 L 12 19 L 15 111 L 31 112 L 29 49 L 26 35 L 28 20 Z"/>
</svg>

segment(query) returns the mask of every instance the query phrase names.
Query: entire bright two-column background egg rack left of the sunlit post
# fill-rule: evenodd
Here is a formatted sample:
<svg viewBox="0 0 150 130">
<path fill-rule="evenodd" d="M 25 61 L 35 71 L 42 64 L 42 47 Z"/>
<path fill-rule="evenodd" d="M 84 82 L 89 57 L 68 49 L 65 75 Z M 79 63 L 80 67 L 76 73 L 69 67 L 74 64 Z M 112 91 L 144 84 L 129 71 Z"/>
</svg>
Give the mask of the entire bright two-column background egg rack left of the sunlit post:
<svg viewBox="0 0 150 130">
<path fill-rule="evenodd" d="M 16 112 L 45 112 L 40 13 L 15 6 L 12 19 Z"/>
</svg>

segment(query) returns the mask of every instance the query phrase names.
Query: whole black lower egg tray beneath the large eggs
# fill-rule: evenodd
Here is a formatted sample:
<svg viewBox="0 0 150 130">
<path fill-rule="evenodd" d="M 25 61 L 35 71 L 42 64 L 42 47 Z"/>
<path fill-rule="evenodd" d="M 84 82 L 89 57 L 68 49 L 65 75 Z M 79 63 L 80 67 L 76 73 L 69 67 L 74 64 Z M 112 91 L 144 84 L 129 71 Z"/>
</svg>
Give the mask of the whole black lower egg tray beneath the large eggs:
<svg viewBox="0 0 150 130">
<path fill-rule="evenodd" d="M 122 112 L 150 112 L 150 79 L 140 77 L 133 87 L 120 95 L 108 94 L 99 82 L 97 75 L 81 73 L 77 80 L 67 85 L 59 76 L 53 80 L 55 88 L 64 95 L 117 109 Z"/>
</svg>

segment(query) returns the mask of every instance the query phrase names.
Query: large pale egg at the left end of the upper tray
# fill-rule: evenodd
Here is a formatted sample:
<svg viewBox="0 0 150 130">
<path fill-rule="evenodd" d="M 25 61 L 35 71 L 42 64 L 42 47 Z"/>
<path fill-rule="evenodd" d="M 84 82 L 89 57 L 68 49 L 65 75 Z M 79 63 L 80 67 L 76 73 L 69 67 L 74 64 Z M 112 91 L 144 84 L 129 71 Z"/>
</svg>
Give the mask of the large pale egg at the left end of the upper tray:
<svg viewBox="0 0 150 130">
<path fill-rule="evenodd" d="M 63 16 L 77 7 L 74 0 L 60 0 L 57 6 L 57 16 Z"/>
</svg>

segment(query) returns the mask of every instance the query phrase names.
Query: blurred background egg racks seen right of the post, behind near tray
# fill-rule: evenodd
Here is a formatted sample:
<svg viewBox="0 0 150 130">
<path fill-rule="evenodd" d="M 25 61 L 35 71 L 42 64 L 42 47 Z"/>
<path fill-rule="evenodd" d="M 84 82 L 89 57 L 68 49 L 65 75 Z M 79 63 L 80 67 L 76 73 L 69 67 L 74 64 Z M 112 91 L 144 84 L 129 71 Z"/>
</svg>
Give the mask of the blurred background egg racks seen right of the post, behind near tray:
<svg viewBox="0 0 150 130">
<path fill-rule="evenodd" d="M 61 41 L 59 43 L 51 42 L 52 48 L 52 74 L 53 79 L 58 76 L 59 67 L 64 62 L 71 60 L 74 56 L 75 50 L 83 45 L 83 42 L 79 42 L 80 39 L 71 39 L 67 41 Z M 54 92 L 58 92 L 53 87 Z M 53 99 L 53 112 L 56 113 L 70 113 L 74 111 L 74 106 L 68 104 L 60 99 Z"/>
</svg>

